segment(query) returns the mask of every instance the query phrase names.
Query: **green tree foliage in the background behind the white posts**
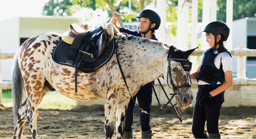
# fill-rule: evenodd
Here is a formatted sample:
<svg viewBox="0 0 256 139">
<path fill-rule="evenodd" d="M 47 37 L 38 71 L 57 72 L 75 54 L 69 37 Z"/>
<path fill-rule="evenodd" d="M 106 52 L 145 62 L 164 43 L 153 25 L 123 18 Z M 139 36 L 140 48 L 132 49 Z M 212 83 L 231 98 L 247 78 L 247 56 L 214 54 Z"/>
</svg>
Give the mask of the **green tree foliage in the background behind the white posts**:
<svg viewBox="0 0 256 139">
<path fill-rule="evenodd" d="M 191 0 L 190 0 L 191 1 Z M 198 22 L 202 22 L 202 1 L 198 0 Z M 135 13 L 145 9 L 147 5 L 156 4 L 156 0 L 132 0 L 131 10 L 128 10 L 129 0 L 49 0 L 44 6 L 43 15 L 72 15 L 83 7 L 90 9 L 102 9 L 107 11 L 108 17 L 112 17 L 113 12 L 122 14 L 118 20 L 121 27 L 122 21 L 137 21 Z M 256 17 L 256 0 L 234 0 L 233 20 L 244 17 Z M 177 22 L 178 0 L 166 0 L 166 21 Z M 88 16 L 90 17 L 90 16 Z M 91 17 L 93 18 L 93 17 Z M 90 20 L 89 18 L 86 18 Z M 217 0 L 217 20 L 226 22 L 226 0 Z M 191 8 L 190 8 L 191 21 Z M 172 34 L 176 35 L 176 24 L 170 26 Z"/>
</svg>

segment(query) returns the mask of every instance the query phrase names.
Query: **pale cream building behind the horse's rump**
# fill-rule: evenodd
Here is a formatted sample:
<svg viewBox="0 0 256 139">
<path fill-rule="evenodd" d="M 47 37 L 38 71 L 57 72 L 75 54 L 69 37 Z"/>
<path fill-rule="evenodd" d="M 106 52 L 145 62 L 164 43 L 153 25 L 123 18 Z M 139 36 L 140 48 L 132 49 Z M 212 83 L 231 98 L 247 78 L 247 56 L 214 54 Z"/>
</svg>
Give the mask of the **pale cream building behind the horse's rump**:
<svg viewBox="0 0 256 139">
<path fill-rule="evenodd" d="M 70 30 L 69 25 L 82 24 L 82 17 L 14 17 L 0 22 L 1 52 L 16 52 L 18 47 L 28 38 L 44 32 L 62 34 Z M 11 80 L 13 59 L 1 60 L 3 81 Z"/>
</svg>

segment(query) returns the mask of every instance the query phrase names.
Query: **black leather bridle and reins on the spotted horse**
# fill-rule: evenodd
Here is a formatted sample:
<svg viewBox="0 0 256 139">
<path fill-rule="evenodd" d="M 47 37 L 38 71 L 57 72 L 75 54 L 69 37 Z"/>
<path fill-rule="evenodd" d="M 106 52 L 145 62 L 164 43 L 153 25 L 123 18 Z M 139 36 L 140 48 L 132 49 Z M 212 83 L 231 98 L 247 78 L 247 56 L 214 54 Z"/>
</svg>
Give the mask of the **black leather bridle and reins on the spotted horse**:
<svg viewBox="0 0 256 139">
<path fill-rule="evenodd" d="M 128 36 L 126 33 L 122 33 L 122 35 L 123 35 L 123 34 L 126 35 L 126 36 Z M 121 37 L 122 35 L 120 35 L 120 37 Z M 120 37 L 118 38 L 118 40 L 120 39 Z M 135 102 L 135 100 L 133 99 L 133 97 L 132 97 L 132 95 L 131 95 L 131 93 L 130 93 L 130 91 L 129 91 L 129 88 L 128 88 L 128 86 L 127 86 L 126 79 L 125 79 L 125 76 L 124 76 L 124 73 L 123 73 L 121 64 L 120 64 L 120 62 L 119 62 L 119 59 L 118 59 L 118 52 L 117 52 L 118 40 L 117 40 L 117 43 L 116 43 L 116 58 L 117 58 L 117 63 L 118 63 L 119 69 L 120 69 L 120 71 L 121 71 L 121 74 L 122 74 L 124 83 L 125 83 L 125 85 L 126 85 L 126 88 L 127 88 L 128 92 L 129 92 L 129 94 L 130 94 L 130 96 L 131 96 L 131 99 L 134 101 L 134 103 L 139 107 L 139 109 L 142 111 L 142 113 L 145 113 L 145 114 L 154 114 L 154 113 L 157 113 L 157 112 L 159 112 L 159 111 L 161 111 L 161 110 L 164 110 L 164 108 L 170 103 L 171 106 L 168 107 L 168 108 L 166 108 L 166 109 L 169 109 L 169 108 L 172 107 L 172 108 L 174 109 L 176 115 L 178 116 L 180 122 L 182 122 L 182 118 L 179 116 L 177 110 L 176 110 L 175 107 L 174 107 L 174 106 L 176 106 L 176 105 L 178 104 L 178 101 L 177 101 L 177 99 L 175 98 L 177 103 L 172 104 L 171 100 L 174 98 L 174 96 L 176 97 L 176 96 L 178 95 L 178 92 L 176 91 L 178 88 L 181 88 L 181 87 L 191 87 L 191 85 L 190 85 L 190 84 L 186 84 L 186 85 L 177 86 L 177 87 L 174 86 L 174 83 L 173 83 L 172 78 L 171 78 L 170 61 L 171 61 L 171 60 L 189 61 L 189 59 L 170 58 L 171 55 L 170 55 L 170 53 L 168 54 L 168 57 L 169 57 L 169 58 L 168 58 L 168 69 L 167 69 L 167 84 L 168 84 L 168 86 L 169 86 L 169 83 L 168 83 L 168 75 L 169 75 L 169 81 L 170 81 L 170 83 L 171 83 L 171 85 L 172 85 L 172 87 L 170 87 L 170 86 L 169 86 L 169 87 L 172 88 L 175 93 L 170 94 L 170 95 L 172 95 L 172 96 L 171 96 L 171 98 L 169 98 L 168 95 L 166 94 L 166 92 L 165 92 L 165 90 L 164 90 L 162 84 L 160 83 L 160 80 L 158 79 L 158 82 L 159 82 L 160 86 L 162 87 L 162 90 L 164 91 L 164 93 L 165 93 L 165 95 L 166 95 L 166 98 L 168 99 L 168 102 L 162 107 L 161 104 L 160 104 L 160 102 L 159 102 L 159 100 L 158 100 L 158 97 L 157 97 L 157 95 L 156 95 L 156 92 L 155 92 L 155 89 L 154 89 L 154 85 L 153 85 L 153 83 L 151 82 L 151 86 L 153 87 L 153 91 L 154 91 L 154 93 L 155 93 L 155 95 L 156 95 L 158 104 L 159 104 L 159 106 L 160 106 L 161 109 L 158 110 L 158 111 L 156 111 L 156 112 L 153 112 L 153 113 L 147 113 L 146 111 L 142 110 L 142 108 Z M 163 77 L 163 78 L 164 78 L 164 77 Z M 191 82 L 191 80 L 190 80 L 190 82 Z M 176 93 L 176 92 L 177 92 L 177 93 Z"/>
</svg>

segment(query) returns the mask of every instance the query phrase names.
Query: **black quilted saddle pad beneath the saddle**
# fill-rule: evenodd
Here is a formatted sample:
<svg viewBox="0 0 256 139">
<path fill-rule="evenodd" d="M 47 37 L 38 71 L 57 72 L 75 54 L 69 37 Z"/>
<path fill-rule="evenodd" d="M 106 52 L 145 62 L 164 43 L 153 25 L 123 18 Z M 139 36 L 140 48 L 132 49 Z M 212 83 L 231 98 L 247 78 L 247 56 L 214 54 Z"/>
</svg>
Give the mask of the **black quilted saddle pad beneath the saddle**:
<svg viewBox="0 0 256 139">
<path fill-rule="evenodd" d="M 110 44 L 105 47 L 102 54 L 98 57 L 97 60 L 93 62 L 86 62 L 82 60 L 81 64 L 78 67 L 78 70 L 84 73 L 91 73 L 101 68 L 112 57 L 114 53 L 114 47 L 115 47 L 115 42 L 114 42 L 114 39 L 112 39 L 112 41 L 110 41 Z M 74 64 L 76 63 L 77 57 L 79 55 L 79 50 L 78 52 L 76 52 L 73 63 L 69 64 L 69 63 L 66 63 L 66 61 L 67 61 L 67 57 L 69 55 L 70 49 L 71 49 L 71 44 L 67 44 L 66 42 L 61 40 L 57 44 L 52 54 L 52 59 L 54 60 L 54 62 L 74 68 Z"/>
</svg>

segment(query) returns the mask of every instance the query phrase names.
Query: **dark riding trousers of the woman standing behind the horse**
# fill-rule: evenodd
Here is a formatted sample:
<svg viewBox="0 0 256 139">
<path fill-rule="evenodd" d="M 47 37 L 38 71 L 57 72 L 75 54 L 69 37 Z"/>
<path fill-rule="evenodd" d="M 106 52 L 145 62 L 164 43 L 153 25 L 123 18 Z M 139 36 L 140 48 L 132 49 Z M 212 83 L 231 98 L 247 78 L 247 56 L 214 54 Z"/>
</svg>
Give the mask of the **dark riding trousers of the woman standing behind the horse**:
<svg viewBox="0 0 256 139">
<path fill-rule="evenodd" d="M 139 90 L 138 93 L 133 97 L 136 101 L 136 97 L 138 98 L 138 105 L 142 108 L 142 110 L 150 113 L 151 110 L 151 102 L 152 102 L 152 92 Z M 128 108 L 125 115 L 125 131 L 130 131 L 132 129 L 133 123 L 133 113 L 134 113 L 135 103 L 132 99 L 128 104 Z M 150 114 L 144 114 L 140 112 L 140 126 L 142 131 L 151 130 L 150 127 Z"/>
</svg>

